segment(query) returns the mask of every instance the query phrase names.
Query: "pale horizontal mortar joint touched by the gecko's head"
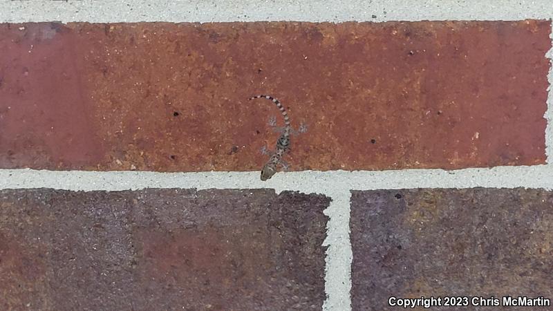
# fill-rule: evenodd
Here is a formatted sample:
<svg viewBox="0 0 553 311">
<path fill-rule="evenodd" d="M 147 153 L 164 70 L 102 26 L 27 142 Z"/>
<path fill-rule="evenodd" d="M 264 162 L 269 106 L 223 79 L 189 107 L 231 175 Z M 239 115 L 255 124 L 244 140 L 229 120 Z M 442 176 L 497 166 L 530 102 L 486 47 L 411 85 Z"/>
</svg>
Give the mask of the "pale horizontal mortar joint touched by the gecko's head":
<svg viewBox="0 0 553 311">
<path fill-rule="evenodd" d="M 144 188 L 275 189 L 333 194 L 348 190 L 408 188 L 553 189 L 553 165 L 402 169 L 392 171 L 293 171 L 262 182 L 259 171 L 163 173 L 152 171 L 47 171 L 0 169 L 0 189 L 52 188 L 118 191 Z"/>
</svg>

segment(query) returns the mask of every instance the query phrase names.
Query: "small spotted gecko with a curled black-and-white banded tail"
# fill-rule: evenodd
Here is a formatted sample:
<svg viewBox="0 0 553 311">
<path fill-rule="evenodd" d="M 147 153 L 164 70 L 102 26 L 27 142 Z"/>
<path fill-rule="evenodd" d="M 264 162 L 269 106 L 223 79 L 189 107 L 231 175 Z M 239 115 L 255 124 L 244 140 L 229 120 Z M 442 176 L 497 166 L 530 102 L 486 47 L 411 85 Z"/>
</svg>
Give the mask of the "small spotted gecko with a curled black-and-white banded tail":
<svg viewBox="0 0 553 311">
<path fill-rule="evenodd" d="M 261 169 L 261 180 L 265 181 L 271 178 L 274 173 L 277 173 L 277 167 L 279 164 L 285 171 L 288 170 L 289 165 L 283 160 L 283 156 L 285 153 L 290 151 L 290 134 L 305 133 L 307 131 L 307 127 L 304 124 L 301 124 L 299 131 L 294 131 L 292 126 L 290 126 L 290 117 L 288 117 L 288 112 L 284 109 L 279 100 L 270 95 L 256 95 L 254 97 L 250 97 L 249 100 L 255 100 L 256 98 L 265 98 L 276 104 L 277 108 L 281 111 L 281 115 L 284 117 L 284 127 L 281 129 L 277 128 L 277 131 L 279 131 L 281 135 L 277 140 L 275 150 L 267 151 L 265 147 L 261 148 L 261 153 L 270 155 L 269 160 Z M 269 122 L 271 126 L 274 126 L 275 123 L 276 120 L 271 120 Z"/>
</svg>

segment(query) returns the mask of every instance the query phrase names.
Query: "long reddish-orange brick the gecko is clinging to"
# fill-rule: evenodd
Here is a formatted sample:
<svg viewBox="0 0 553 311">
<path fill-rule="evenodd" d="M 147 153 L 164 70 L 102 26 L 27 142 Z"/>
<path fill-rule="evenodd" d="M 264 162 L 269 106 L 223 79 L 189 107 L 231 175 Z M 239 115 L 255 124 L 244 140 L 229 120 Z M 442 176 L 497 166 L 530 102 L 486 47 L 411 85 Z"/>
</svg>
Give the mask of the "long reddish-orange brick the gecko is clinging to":
<svg viewBox="0 0 553 311">
<path fill-rule="evenodd" d="M 0 167 L 244 171 L 545 162 L 549 21 L 0 25 Z M 279 120 L 281 122 L 281 120 Z"/>
</svg>

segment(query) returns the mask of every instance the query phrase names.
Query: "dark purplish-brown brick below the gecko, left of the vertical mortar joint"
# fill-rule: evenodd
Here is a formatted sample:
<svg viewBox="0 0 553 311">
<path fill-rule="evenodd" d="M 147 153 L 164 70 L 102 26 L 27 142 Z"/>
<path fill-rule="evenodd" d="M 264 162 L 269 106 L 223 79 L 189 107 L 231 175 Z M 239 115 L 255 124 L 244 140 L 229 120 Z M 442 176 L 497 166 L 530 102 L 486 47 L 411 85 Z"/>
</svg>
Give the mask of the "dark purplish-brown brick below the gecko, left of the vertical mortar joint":
<svg viewBox="0 0 553 311">
<path fill-rule="evenodd" d="M 321 310 L 329 199 L 0 191 L 1 310 Z"/>
</svg>

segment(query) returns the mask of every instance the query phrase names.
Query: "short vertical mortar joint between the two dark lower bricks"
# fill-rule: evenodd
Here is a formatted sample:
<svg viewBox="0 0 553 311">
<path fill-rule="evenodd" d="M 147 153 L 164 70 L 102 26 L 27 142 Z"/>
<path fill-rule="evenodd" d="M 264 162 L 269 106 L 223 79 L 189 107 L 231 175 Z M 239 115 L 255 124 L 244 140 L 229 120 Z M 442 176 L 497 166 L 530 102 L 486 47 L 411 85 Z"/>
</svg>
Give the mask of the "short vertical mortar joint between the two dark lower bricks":
<svg viewBox="0 0 553 311">
<path fill-rule="evenodd" d="M 351 263 L 350 243 L 350 189 L 339 187 L 325 191 L 332 202 L 324 211 L 330 219 L 326 225 L 323 245 L 328 247 L 325 256 L 324 291 L 326 299 L 323 310 L 351 310 Z"/>
</svg>

